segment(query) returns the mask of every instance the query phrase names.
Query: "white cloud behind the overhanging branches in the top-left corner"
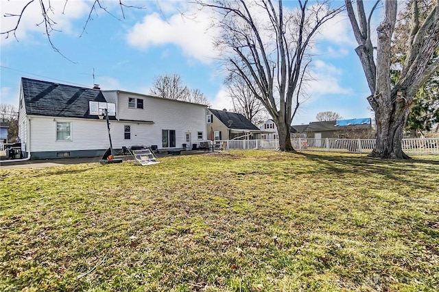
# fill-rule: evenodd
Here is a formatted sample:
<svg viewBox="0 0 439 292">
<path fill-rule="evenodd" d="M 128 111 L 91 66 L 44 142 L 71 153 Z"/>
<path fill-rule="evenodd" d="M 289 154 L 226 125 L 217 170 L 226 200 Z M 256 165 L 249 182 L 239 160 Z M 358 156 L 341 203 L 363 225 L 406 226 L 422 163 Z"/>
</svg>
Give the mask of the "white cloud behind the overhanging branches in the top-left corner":
<svg viewBox="0 0 439 292">
<path fill-rule="evenodd" d="M 5 14 L 19 15 L 25 7 L 27 0 L 14 0 L 14 1 L 0 1 L 1 2 L 1 32 L 7 32 L 10 29 L 14 29 L 19 20 L 18 16 L 4 16 Z M 49 1 L 43 0 L 46 8 L 49 8 Z M 52 10 L 48 12 L 48 16 L 54 23 L 54 29 L 62 31 L 64 33 L 72 33 L 72 21 L 79 19 L 86 15 L 90 9 L 89 3 L 85 0 L 76 0 L 67 2 L 64 9 L 65 1 L 50 1 Z M 39 1 L 30 3 L 23 12 L 23 17 L 19 23 L 19 27 L 16 29 L 16 38 L 19 41 L 32 41 L 32 32 L 38 32 L 39 34 L 45 33 L 45 27 L 43 24 L 37 26 L 37 24 L 43 21 L 41 13 L 41 6 Z M 56 32 L 52 32 L 56 34 Z M 1 35 L 0 44 L 6 45 L 11 42 L 16 42 L 13 32 L 10 33 L 8 38 L 5 35 Z"/>
</svg>

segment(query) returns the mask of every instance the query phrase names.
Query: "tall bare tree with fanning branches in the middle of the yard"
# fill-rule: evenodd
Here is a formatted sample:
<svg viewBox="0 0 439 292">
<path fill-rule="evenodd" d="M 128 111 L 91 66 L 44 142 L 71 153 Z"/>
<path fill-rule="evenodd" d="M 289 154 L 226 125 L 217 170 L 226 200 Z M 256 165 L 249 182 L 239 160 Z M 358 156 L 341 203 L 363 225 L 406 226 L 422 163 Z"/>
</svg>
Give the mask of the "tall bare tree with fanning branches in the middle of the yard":
<svg viewBox="0 0 439 292">
<path fill-rule="evenodd" d="M 342 8 L 330 1 L 298 0 L 294 10 L 283 1 L 214 0 L 198 3 L 217 13 L 222 29 L 217 47 L 228 70 L 239 75 L 268 110 L 278 128 L 279 149 L 293 151 L 290 125 L 300 105 L 300 89 L 313 36 Z M 293 107 L 294 100 L 294 107 Z"/>
</svg>

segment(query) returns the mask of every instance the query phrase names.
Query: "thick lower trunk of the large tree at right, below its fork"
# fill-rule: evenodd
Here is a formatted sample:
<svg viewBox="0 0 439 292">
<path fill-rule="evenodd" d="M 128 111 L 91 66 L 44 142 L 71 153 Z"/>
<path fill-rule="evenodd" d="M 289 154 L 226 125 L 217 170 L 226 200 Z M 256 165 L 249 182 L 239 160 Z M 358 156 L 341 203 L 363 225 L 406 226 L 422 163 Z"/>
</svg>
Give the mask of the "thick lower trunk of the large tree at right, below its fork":
<svg viewBox="0 0 439 292">
<path fill-rule="evenodd" d="M 403 152 L 402 139 L 404 125 L 410 112 L 407 99 L 390 95 L 394 103 L 385 104 L 383 98 L 377 104 L 375 120 L 377 121 L 377 140 L 370 157 L 407 159 L 410 158 Z"/>
</svg>

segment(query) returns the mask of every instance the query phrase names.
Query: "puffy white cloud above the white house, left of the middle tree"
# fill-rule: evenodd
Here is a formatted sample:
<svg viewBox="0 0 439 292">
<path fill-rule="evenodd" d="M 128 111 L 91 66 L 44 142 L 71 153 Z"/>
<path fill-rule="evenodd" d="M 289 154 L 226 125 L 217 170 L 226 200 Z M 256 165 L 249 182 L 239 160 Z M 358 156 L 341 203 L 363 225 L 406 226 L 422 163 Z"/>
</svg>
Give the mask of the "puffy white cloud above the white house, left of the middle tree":
<svg viewBox="0 0 439 292">
<path fill-rule="evenodd" d="M 190 14 L 191 12 L 187 12 L 185 15 Z M 215 30 L 209 29 L 211 17 L 204 11 L 198 11 L 196 18 L 185 15 L 177 12 L 163 19 L 157 12 L 148 14 L 141 23 L 132 27 L 127 42 L 142 50 L 157 45 L 174 44 L 182 49 L 185 56 L 210 63 L 218 54 L 213 47 Z"/>
</svg>

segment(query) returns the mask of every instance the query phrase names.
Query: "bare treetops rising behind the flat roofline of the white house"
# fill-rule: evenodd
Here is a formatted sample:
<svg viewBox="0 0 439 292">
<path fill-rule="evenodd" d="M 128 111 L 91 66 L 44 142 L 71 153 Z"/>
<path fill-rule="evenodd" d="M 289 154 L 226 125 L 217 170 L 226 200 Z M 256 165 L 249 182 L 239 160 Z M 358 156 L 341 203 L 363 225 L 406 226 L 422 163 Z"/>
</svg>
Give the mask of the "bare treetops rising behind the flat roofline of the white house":
<svg viewBox="0 0 439 292">
<path fill-rule="evenodd" d="M 181 76 L 177 73 L 154 77 L 150 94 L 166 99 L 177 99 L 210 106 L 206 96 L 199 89 L 189 89 L 187 86 L 183 86 Z"/>
</svg>

